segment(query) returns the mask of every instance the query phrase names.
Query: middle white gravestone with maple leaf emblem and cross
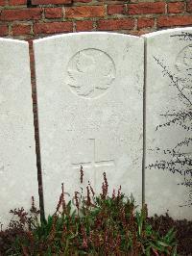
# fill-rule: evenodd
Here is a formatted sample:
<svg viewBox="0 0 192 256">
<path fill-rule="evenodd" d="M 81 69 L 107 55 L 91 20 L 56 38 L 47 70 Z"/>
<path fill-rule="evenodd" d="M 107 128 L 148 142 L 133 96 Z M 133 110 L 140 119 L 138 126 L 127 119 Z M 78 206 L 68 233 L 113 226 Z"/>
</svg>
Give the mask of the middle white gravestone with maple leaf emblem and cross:
<svg viewBox="0 0 192 256">
<path fill-rule="evenodd" d="M 67 199 L 82 186 L 81 166 L 84 185 L 101 192 L 106 171 L 110 192 L 121 185 L 141 204 L 143 38 L 79 33 L 34 44 L 46 214 L 61 182 Z"/>
</svg>

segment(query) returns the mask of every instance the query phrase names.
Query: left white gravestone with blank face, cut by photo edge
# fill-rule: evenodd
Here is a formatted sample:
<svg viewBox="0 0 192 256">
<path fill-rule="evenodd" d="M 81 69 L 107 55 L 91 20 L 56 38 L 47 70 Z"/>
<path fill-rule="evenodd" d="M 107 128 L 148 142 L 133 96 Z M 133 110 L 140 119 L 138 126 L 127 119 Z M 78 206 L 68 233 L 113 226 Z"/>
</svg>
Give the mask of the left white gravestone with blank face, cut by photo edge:
<svg viewBox="0 0 192 256">
<path fill-rule="evenodd" d="M 29 46 L 0 38 L 0 222 L 11 209 L 38 206 Z"/>
</svg>

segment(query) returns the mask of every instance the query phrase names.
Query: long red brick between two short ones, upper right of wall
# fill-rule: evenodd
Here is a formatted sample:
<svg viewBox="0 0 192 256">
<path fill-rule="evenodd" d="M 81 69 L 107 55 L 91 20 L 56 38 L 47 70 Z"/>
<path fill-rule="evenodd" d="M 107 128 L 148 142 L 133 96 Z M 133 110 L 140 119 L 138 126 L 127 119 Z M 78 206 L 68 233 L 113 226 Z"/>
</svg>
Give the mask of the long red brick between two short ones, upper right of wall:
<svg viewBox="0 0 192 256">
<path fill-rule="evenodd" d="M 165 3 L 138 3 L 128 6 L 129 14 L 165 13 Z"/>
</svg>

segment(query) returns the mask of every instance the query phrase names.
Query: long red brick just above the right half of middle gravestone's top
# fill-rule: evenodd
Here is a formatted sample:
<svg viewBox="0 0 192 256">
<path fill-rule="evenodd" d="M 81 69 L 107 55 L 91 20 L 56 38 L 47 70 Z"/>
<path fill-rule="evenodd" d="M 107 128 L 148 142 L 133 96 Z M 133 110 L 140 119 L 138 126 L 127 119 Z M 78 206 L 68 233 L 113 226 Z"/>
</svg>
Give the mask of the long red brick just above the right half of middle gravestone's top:
<svg viewBox="0 0 192 256">
<path fill-rule="evenodd" d="M 132 18 L 106 19 L 98 21 L 98 30 L 127 30 L 132 29 L 134 20 Z"/>
</svg>

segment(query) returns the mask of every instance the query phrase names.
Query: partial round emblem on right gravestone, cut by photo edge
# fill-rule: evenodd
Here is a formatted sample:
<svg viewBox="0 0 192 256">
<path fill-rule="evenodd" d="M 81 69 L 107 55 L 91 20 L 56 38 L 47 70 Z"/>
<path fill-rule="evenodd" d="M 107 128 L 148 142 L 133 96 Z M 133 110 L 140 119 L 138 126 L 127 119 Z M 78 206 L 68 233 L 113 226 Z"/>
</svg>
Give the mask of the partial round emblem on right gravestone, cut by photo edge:
<svg viewBox="0 0 192 256">
<path fill-rule="evenodd" d="M 192 90 L 192 45 L 184 47 L 176 58 L 179 86 L 184 90 Z"/>
</svg>

